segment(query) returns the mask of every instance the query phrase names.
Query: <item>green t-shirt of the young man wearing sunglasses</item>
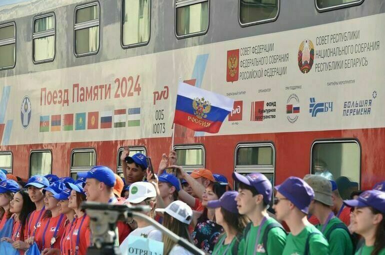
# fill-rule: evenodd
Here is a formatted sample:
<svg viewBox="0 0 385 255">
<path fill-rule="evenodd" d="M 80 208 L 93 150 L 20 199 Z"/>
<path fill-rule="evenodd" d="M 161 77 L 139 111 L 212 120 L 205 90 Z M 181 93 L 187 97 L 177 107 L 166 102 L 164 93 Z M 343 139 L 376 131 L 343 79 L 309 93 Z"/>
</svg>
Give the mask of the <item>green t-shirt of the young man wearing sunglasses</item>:
<svg viewBox="0 0 385 255">
<path fill-rule="evenodd" d="M 286 245 L 284 246 L 282 255 L 303 255 L 305 252 L 305 245 L 307 236 L 313 234 L 309 239 L 309 254 L 310 255 L 328 255 L 329 244 L 322 233 L 313 225 L 305 226 L 297 235 L 289 233 L 286 238 Z"/>
</svg>

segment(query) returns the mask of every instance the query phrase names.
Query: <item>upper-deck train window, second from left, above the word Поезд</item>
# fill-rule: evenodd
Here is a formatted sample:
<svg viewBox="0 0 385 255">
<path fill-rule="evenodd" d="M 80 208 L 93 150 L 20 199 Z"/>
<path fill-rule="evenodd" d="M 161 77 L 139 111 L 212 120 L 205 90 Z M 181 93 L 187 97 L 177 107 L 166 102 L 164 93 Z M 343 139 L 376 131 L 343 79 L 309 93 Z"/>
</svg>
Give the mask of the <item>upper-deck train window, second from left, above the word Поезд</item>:
<svg viewBox="0 0 385 255">
<path fill-rule="evenodd" d="M 55 57 L 55 16 L 53 13 L 33 19 L 33 62 L 53 61 Z"/>
</svg>

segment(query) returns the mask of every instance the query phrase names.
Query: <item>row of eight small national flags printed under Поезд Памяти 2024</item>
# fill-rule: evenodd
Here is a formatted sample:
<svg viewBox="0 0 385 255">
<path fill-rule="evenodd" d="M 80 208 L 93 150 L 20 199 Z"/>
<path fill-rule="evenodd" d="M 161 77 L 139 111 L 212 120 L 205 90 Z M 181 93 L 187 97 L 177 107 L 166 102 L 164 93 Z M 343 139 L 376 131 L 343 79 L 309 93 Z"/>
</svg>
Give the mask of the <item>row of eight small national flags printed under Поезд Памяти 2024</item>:
<svg viewBox="0 0 385 255">
<path fill-rule="evenodd" d="M 51 131 L 140 126 L 140 107 L 40 116 L 40 132 L 49 126 Z"/>
</svg>

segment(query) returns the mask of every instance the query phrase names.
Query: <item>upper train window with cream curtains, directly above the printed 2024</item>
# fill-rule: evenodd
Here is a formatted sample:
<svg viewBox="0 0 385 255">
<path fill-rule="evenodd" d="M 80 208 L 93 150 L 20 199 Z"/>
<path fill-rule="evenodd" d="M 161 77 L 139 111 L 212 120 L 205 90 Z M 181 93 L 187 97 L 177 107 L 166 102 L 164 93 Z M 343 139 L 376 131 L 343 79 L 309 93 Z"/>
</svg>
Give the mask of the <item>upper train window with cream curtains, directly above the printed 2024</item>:
<svg viewBox="0 0 385 255">
<path fill-rule="evenodd" d="M 151 0 L 122 0 L 121 45 L 134 47 L 149 41 Z"/>
</svg>

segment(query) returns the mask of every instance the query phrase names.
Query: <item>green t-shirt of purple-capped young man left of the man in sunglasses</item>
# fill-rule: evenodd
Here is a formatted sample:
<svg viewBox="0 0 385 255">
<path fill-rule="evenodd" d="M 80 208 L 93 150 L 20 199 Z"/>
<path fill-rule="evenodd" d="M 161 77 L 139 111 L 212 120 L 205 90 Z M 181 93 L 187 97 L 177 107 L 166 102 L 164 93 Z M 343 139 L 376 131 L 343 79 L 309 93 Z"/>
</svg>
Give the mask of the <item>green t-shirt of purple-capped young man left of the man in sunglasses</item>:
<svg viewBox="0 0 385 255">
<path fill-rule="evenodd" d="M 280 227 L 273 227 L 268 231 L 266 243 L 267 247 L 263 247 L 264 230 L 266 229 L 266 226 L 268 224 L 274 222 L 277 221 L 273 218 L 268 218 L 264 222 L 260 230 L 259 240 L 256 240 L 256 235 L 258 234 L 259 226 L 251 225 L 250 230 L 248 231 L 248 233 L 244 234 L 243 239 L 239 243 L 238 254 L 253 255 L 254 250 L 255 255 L 266 254 L 266 248 L 267 254 L 282 254 L 282 250 L 286 242 L 286 232 Z M 256 241 L 258 241 L 258 244 L 256 245 L 255 249 Z"/>
</svg>

